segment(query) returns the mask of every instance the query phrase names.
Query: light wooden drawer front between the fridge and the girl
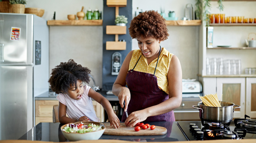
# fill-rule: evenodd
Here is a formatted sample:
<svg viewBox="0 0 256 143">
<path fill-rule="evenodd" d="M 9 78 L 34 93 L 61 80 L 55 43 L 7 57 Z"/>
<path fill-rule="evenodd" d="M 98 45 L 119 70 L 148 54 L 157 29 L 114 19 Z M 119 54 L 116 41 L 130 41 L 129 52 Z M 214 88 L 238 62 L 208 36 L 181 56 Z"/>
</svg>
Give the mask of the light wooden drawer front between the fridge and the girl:
<svg viewBox="0 0 256 143">
<path fill-rule="evenodd" d="M 35 101 L 35 116 L 53 118 L 53 105 L 58 105 L 57 100 L 37 100 Z M 52 119 L 53 121 L 53 119 Z"/>
</svg>

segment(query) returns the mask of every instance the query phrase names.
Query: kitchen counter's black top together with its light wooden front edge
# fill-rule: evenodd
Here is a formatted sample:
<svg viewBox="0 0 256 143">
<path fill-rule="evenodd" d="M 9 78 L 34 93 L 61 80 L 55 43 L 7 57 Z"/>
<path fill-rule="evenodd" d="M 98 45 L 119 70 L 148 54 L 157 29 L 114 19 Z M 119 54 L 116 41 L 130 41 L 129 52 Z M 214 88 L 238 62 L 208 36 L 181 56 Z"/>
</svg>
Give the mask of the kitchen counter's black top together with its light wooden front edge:
<svg viewBox="0 0 256 143">
<path fill-rule="evenodd" d="M 189 123 L 190 121 L 183 121 Z M 178 122 L 148 122 L 157 126 L 164 126 L 167 129 L 165 135 L 154 136 L 117 136 L 117 135 L 102 135 L 99 140 L 94 140 L 95 143 L 112 142 L 112 143 L 127 143 L 127 141 L 140 141 L 140 142 L 172 142 L 172 143 L 187 143 L 185 136 L 181 133 L 177 123 Z M 181 123 L 181 121 L 179 121 Z M 68 141 L 60 131 L 61 123 L 39 123 L 28 131 L 25 135 L 18 140 L 3 140 L 0 143 L 49 143 L 49 142 L 64 142 Z M 40 141 L 40 142 L 38 142 Z M 88 141 L 76 141 L 76 143 Z M 202 141 L 189 141 L 190 143 L 198 143 Z M 223 140 L 204 140 L 205 143 L 255 143 L 256 139 L 223 139 Z"/>
</svg>

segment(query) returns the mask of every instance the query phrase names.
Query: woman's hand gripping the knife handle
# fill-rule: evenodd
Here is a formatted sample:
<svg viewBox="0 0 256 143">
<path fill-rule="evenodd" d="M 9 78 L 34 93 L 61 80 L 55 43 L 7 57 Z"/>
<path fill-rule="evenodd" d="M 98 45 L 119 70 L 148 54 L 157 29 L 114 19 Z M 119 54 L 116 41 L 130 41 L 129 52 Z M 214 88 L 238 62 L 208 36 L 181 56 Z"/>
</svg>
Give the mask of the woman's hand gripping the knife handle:
<svg viewBox="0 0 256 143">
<path fill-rule="evenodd" d="M 131 93 L 130 93 L 129 88 L 122 87 L 122 89 L 120 90 L 120 92 L 118 94 L 118 100 L 119 100 L 119 104 L 121 105 L 121 107 L 124 108 L 124 112 L 128 108 L 128 104 L 130 102 L 130 99 L 131 99 Z M 124 101 L 125 101 L 125 107 L 123 105 Z"/>
</svg>

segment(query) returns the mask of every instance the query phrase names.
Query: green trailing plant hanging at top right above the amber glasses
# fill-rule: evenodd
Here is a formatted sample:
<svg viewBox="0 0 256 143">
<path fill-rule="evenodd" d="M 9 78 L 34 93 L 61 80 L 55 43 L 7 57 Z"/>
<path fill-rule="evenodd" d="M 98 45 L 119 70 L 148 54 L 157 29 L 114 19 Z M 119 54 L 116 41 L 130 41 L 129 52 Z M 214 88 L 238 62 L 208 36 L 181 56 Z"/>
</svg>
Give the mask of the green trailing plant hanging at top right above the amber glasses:
<svg viewBox="0 0 256 143">
<path fill-rule="evenodd" d="M 220 11 L 223 11 L 224 9 L 224 5 L 223 2 L 224 0 L 218 0 L 218 9 Z M 211 4 L 210 4 L 210 0 L 196 0 L 196 17 L 198 19 L 202 19 L 201 16 L 203 16 L 203 20 L 206 23 L 206 26 L 209 26 L 209 23 L 211 22 L 210 20 L 210 12 L 209 10 L 211 9 Z M 203 15 L 202 15 L 203 13 Z"/>
</svg>

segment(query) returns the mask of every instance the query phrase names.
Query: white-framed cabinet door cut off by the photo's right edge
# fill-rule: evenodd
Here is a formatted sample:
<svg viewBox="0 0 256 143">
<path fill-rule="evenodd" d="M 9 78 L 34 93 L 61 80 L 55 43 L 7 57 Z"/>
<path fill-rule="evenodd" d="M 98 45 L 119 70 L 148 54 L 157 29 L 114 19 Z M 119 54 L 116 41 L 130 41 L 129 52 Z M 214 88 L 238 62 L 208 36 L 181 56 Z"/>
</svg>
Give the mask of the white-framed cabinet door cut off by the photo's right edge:
<svg viewBox="0 0 256 143">
<path fill-rule="evenodd" d="M 246 77 L 246 115 L 256 118 L 256 78 Z"/>
</svg>

